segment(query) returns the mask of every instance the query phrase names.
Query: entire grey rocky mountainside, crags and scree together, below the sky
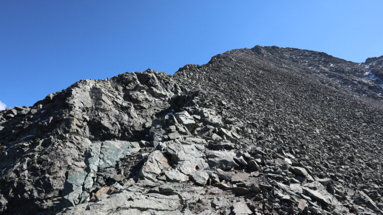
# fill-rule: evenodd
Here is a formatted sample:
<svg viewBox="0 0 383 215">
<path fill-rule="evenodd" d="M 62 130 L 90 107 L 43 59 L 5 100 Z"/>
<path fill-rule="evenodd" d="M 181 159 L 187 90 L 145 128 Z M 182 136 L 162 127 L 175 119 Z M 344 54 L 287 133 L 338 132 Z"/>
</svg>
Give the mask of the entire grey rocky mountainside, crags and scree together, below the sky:
<svg viewBox="0 0 383 215">
<path fill-rule="evenodd" d="M 381 58 L 256 46 L 0 111 L 0 212 L 382 214 Z"/>
</svg>

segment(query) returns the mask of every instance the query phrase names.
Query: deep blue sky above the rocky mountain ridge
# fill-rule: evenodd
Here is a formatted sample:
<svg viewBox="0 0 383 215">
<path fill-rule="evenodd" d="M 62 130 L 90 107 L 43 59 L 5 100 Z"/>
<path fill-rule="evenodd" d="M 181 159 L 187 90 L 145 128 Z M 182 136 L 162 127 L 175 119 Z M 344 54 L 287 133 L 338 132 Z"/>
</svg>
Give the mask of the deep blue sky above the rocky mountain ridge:
<svg viewBox="0 0 383 215">
<path fill-rule="evenodd" d="M 1 0 L 0 101 L 30 106 L 80 79 L 174 74 L 257 44 L 363 62 L 383 55 L 382 11 L 382 0 Z"/>
</svg>

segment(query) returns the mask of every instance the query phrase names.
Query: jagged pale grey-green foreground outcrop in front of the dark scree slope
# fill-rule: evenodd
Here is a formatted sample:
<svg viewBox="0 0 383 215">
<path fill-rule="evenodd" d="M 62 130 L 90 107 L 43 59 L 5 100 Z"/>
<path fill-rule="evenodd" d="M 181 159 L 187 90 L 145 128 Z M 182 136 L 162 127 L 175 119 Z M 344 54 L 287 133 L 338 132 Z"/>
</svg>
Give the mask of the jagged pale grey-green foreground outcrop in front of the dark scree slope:
<svg viewBox="0 0 383 215">
<path fill-rule="evenodd" d="M 1 112 L 1 210 L 28 200 L 65 215 L 382 214 L 379 194 L 252 138 L 200 97 L 149 70 Z"/>
</svg>

